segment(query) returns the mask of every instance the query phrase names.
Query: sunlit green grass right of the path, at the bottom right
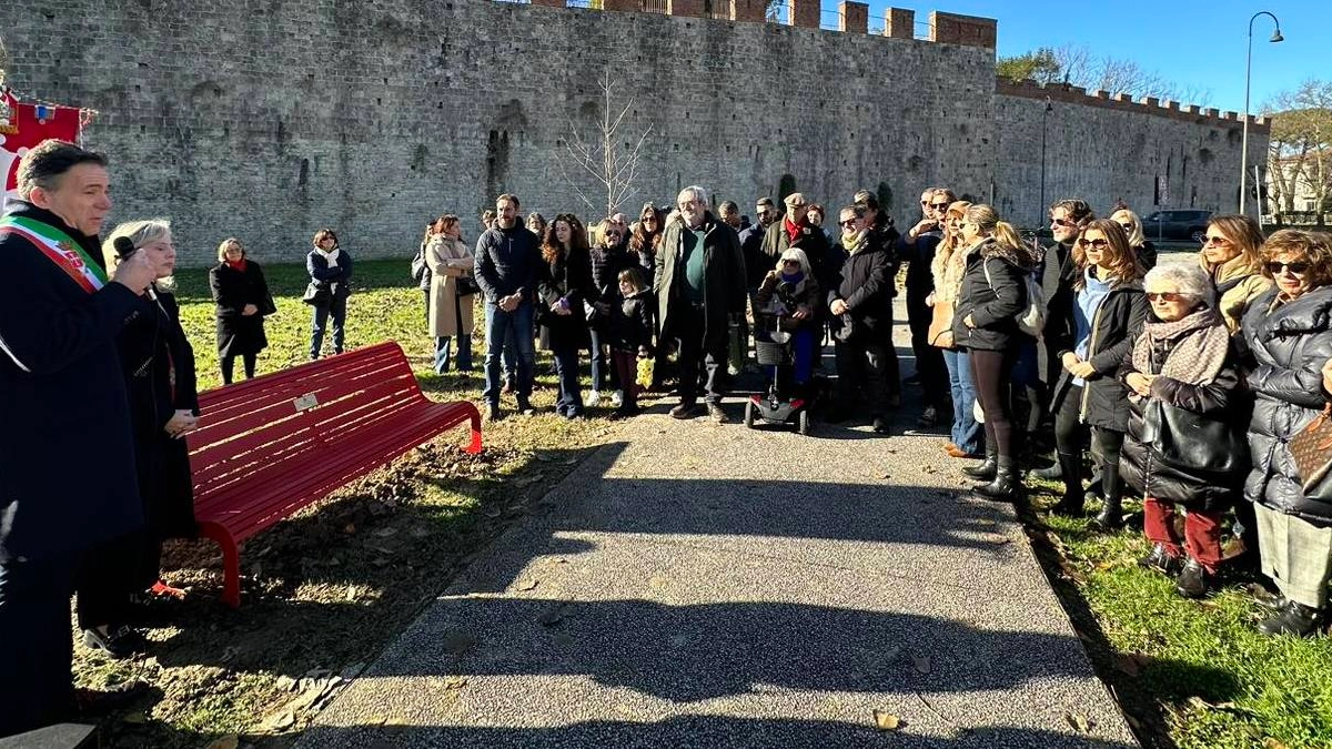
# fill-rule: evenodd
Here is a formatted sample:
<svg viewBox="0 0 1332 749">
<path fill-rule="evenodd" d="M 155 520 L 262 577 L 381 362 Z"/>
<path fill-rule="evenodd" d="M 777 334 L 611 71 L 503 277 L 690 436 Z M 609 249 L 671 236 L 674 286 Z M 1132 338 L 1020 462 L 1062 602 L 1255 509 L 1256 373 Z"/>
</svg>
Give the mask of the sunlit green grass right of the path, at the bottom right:
<svg viewBox="0 0 1332 749">
<path fill-rule="evenodd" d="M 1038 508 L 1054 501 L 1034 497 Z M 1268 612 L 1245 589 L 1252 578 L 1188 601 L 1138 566 L 1150 550 L 1140 530 L 1027 521 L 1099 672 L 1150 746 L 1332 746 L 1332 641 L 1259 634 L 1253 625 Z"/>
</svg>

